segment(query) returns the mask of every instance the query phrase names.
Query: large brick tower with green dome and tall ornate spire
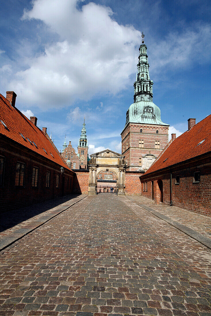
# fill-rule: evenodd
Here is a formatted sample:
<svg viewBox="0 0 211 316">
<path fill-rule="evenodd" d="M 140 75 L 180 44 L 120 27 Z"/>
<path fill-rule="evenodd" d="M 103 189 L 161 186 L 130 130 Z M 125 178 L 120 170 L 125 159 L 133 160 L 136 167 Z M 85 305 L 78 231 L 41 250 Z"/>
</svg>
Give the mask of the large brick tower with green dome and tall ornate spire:
<svg viewBox="0 0 211 316">
<path fill-rule="evenodd" d="M 149 76 L 149 63 L 142 32 L 139 47 L 134 103 L 126 113 L 126 124 L 121 133 L 122 155 L 128 171 L 148 169 L 168 143 L 169 125 L 161 121 L 160 109 L 152 102 L 153 81 Z"/>
</svg>

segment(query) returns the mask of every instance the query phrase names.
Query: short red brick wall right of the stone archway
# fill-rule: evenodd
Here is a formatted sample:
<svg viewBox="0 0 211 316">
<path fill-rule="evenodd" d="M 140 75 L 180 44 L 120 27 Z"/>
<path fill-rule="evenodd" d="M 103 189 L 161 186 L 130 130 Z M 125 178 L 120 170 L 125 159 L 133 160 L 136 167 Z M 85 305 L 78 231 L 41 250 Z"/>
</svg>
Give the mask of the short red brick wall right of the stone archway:
<svg viewBox="0 0 211 316">
<path fill-rule="evenodd" d="M 132 172 L 126 172 L 125 173 L 125 194 L 135 194 L 135 195 L 141 195 L 141 181 L 140 176 L 142 176 L 143 173 L 132 173 Z"/>
</svg>

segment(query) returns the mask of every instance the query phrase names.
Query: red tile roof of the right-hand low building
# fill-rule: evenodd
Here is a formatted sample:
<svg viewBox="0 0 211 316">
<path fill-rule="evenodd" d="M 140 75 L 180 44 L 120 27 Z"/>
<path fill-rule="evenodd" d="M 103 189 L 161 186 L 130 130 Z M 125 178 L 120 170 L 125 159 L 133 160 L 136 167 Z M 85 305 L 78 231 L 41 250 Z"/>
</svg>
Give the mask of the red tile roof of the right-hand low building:
<svg viewBox="0 0 211 316">
<path fill-rule="evenodd" d="M 177 137 L 144 176 L 208 152 L 211 152 L 211 115 Z"/>
</svg>

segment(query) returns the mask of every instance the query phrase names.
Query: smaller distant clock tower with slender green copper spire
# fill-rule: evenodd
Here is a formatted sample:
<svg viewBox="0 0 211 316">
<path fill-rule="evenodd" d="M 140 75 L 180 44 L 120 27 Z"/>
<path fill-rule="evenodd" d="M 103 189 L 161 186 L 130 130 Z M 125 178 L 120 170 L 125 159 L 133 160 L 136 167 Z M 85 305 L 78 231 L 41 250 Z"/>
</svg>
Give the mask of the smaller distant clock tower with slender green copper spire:
<svg viewBox="0 0 211 316">
<path fill-rule="evenodd" d="M 86 137 L 86 124 L 85 124 L 85 117 L 84 117 L 84 123 L 81 130 L 81 135 L 78 143 L 78 155 L 80 158 L 80 169 L 86 169 L 87 168 L 87 162 L 89 161 L 88 156 L 88 143 L 87 143 L 87 137 Z"/>
</svg>

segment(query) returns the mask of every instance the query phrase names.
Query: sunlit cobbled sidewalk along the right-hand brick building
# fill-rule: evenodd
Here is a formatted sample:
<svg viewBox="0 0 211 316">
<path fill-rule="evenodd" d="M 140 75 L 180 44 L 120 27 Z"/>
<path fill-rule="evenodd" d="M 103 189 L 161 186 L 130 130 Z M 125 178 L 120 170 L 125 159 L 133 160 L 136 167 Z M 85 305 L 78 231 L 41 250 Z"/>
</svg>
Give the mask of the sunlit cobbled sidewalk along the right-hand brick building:
<svg viewBox="0 0 211 316">
<path fill-rule="evenodd" d="M 127 196 L 132 201 L 145 204 L 160 212 L 161 214 L 170 217 L 172 220 L 179 222 L 180 224 L 186 225 L 189 228 L 194 229 L 200 234 L 205 235 L 208 238 L 211 238 L 211 217 L 204 216 L 201 214 L 196 214 L 188 210 L 181 209 L 176 206 L 168 206 L 162 204 L 152 204 L 152 200 L 147 197 L 133 195 Z"/>
</svg>

